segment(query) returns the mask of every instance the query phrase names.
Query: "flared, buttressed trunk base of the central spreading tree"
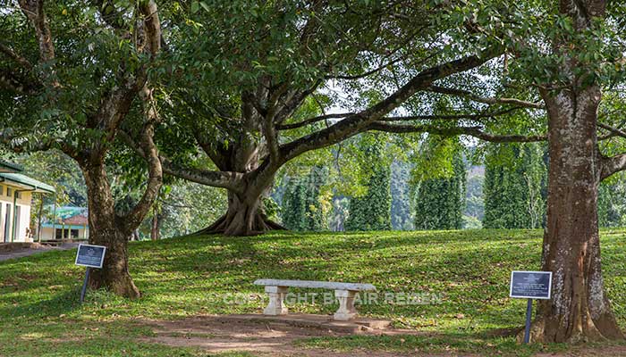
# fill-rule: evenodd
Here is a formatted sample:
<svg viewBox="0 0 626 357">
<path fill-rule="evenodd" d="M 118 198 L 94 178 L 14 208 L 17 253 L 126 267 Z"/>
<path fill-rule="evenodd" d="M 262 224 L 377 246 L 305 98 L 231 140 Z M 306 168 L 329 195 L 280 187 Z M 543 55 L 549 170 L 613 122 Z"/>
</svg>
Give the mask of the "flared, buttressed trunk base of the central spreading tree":
<svg viewBox="0 0 626 357">
<path fill-rule="evenodd" d="M 269 220 L 263 212 L 262 195 L 247 190 L 243 195 L 228 192 L 228 210 L 208 228 L 197 234 L 224 234 L 225 236 L 254 236 L 267 230 L 285 229 Z"/>
</svg>

